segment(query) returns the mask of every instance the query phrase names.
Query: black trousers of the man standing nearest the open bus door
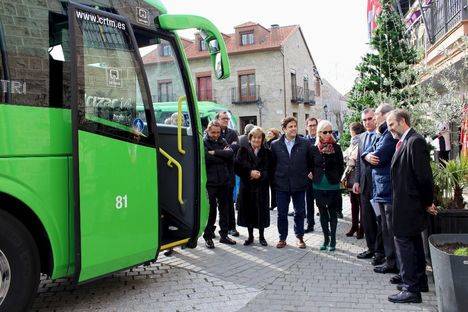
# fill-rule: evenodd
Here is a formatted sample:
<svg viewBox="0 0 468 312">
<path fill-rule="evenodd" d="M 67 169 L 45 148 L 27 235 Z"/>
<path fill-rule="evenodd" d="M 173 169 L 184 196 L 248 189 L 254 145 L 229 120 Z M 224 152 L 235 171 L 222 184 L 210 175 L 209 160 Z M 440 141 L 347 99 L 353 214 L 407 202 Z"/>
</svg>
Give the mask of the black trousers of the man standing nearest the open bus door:
<svg viewBox="0 0 468 312">
<path fill-rule="evenodd" d="M 207 186 L 206 188 L 208 190 L 208 199 L 210 202 L 210 214 L 208 215 L 208 223 L 206 225 L 203 237 L 205 239 L 214 237 L 214 231 L 216 229 L 216 209 L 219 210 L 219 235 L 221 237 L 226 237 L 229 230 L 228 192 L 230 187 L 223 185 Z"/>
</svg>

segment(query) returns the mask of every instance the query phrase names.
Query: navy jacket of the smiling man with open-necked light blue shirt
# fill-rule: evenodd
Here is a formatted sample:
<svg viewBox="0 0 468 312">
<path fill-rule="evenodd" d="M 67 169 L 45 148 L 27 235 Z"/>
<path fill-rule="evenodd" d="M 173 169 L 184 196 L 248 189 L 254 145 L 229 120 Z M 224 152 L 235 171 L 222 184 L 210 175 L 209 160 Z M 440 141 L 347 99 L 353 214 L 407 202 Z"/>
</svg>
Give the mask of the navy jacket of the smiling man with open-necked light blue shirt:
<svg viewBox="0 0 468 312">
<path fill-rule="evenodd" d="M 310 141 L 296 136 L 291 156 L 288 153 L 283 134 L 271 144 L 274 184 L 277 191 L 305 191 L 312 171 L 312 145 Z"/>
</svg>

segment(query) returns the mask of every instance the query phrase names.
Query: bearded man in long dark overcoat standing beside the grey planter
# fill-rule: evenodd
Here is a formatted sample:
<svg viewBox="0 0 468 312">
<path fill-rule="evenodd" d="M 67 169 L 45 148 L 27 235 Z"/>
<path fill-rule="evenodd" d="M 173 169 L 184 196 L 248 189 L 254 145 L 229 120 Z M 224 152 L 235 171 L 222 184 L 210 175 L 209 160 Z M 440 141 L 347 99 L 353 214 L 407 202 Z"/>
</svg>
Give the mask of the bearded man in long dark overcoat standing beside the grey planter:
<svg viewBox="0 0 468 312">
<path fill-rule="evenodd" d="M 402 109 L 387 117 L 388 129 L 398 139 L 392 159 L 393 231 L 400 264 L 401 290 L 388 300 L 420 303 L 428 291 L 426 260 L 421 232 L 427 227 L 427 213 L 436 214 L 434 183 L 429 148 L 424 138 L 411 128 L 410 116 Z"/>
</svg>

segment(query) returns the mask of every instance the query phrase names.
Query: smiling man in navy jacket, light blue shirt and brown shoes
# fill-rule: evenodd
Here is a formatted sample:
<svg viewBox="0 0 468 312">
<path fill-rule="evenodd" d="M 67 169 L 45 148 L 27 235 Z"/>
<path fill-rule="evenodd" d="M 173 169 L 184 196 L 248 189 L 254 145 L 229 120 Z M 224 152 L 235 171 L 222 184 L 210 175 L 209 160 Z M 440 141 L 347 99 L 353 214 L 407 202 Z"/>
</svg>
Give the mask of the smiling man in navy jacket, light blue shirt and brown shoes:
<svg viewBox="0 0 468 312">
<path fill-rule="evenodd" d="M 286 117 L 281 121 L 284 134 L 271 144 L 272 168 L 278 204 L 277 248 L 286 247 L 288 236 L 288 208 L 291 198 L 294 205 L 294 232 L 297 247 L 304 243 L 305 191 L 312 183 L 312 145 L 309 140 L 297 135 L 297 119 Z"/>
</svg>

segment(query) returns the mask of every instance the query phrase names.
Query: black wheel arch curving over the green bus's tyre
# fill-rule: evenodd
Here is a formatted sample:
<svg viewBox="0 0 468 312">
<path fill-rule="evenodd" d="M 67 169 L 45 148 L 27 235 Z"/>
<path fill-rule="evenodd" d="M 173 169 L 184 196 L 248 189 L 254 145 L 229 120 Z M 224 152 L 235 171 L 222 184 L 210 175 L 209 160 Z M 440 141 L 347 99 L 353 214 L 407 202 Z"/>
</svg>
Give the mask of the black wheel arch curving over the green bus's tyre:
<svg viewBox="0 0 468 312">
<path fill-rule="evenodd" d="M 41 273 L 51 276 L 54 267 L 52 246 L 38 216 L 21 200 L 2 192 L 0 192 L 0 210 L 8 212 L 26 227 L 39 251 Z"/>
</svg>

